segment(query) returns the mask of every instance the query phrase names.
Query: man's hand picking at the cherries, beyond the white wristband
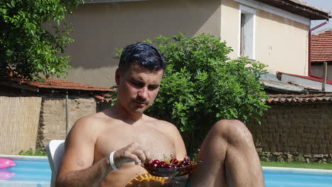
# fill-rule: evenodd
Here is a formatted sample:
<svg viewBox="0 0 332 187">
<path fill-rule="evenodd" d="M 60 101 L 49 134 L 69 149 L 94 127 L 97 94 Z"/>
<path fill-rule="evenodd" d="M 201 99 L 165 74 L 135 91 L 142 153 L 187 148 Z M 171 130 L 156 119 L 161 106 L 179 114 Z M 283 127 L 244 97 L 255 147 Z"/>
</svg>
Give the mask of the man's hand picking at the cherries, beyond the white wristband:
<svg viewBox="0 0 332 187">
<path fill-rule="evenodd" d="M 144 149 L 139 142 L 134 142 L 122 149 L 118 149 L 114 153 L 113 159 L 118 169 L 127 162 L 135 162 L 135 164 L 138 165 L 151 160 L 150 153 Z"/>
</svg>

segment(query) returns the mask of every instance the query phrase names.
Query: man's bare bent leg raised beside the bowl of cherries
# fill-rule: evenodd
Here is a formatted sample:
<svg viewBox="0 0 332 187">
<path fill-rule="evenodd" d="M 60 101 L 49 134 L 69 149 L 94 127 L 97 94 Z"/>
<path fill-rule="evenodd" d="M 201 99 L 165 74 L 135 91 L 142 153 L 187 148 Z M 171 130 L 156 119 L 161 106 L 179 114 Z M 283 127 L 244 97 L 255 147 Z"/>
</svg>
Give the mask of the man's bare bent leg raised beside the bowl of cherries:
<svg viewBox="0 0 332 187">
<path fill-rule="evenodd" d="M 239 120 L 220 120 L 209 131 L 192 172 L 192 187 L 265 186 L 260 159 L 248 128 Z"/>
</svg>

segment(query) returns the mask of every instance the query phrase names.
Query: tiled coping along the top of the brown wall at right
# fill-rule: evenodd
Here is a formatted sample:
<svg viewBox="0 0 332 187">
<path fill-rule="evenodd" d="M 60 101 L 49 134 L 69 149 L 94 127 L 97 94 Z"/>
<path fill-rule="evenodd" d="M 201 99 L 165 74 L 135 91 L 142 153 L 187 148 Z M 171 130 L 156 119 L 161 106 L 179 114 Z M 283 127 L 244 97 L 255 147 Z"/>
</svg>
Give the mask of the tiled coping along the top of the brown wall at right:
<svg viewBox="0 0 332 187">
<path fill-rule="evenodd" d="M 267 103 L 314 103 L 332 101 L 332 93 L 328 94 L 269 94 L 270 98 L 263 99 Z"/>
</svg>

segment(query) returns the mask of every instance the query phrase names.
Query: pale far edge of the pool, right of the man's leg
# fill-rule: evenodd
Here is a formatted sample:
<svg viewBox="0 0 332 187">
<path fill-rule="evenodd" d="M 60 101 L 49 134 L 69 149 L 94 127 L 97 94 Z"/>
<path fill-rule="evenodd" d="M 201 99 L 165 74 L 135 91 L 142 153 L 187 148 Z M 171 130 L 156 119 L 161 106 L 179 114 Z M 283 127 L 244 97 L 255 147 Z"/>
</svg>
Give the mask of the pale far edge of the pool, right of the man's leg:
<svg viewBox="0 0 332 187">
<path fill-rule="evenodd" d="M 271 173 L 284 174 L 309 174 L 319 176 L 332 176 L 332 170 L 328 169 L 302 169 L 302 168 L 285 168 L 285 167 L 267 167 L 262 166 L 262 170 Z"/>
</svg>

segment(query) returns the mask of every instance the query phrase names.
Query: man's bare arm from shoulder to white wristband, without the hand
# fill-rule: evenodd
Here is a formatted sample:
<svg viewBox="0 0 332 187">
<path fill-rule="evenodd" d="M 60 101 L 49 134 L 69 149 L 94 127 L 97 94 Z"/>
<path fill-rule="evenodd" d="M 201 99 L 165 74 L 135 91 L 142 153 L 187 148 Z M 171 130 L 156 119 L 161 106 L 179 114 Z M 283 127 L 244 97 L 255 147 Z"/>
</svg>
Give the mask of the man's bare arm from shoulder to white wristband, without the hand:
<svg viewBox="0 0 332 187">
<path fill-rule="evenodd" d="M 75 123 L 65 142 L 65 154 L 57 174 L 56 186 L 100 186 L 111 171 L 109 158 L 94 162 L 96 123 L 91 117 Z"/>
</svg>

